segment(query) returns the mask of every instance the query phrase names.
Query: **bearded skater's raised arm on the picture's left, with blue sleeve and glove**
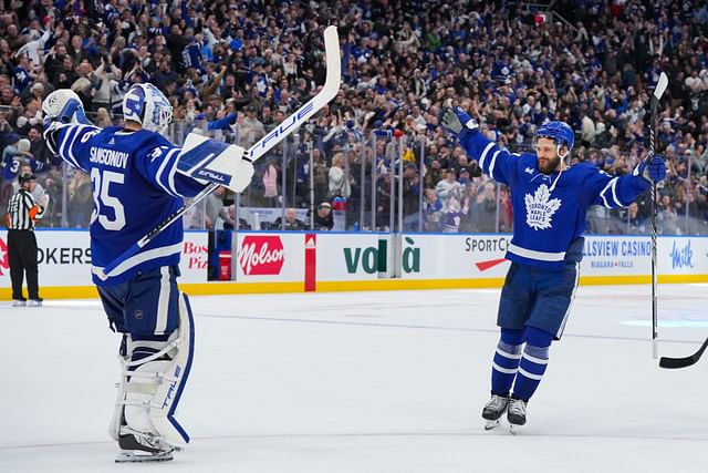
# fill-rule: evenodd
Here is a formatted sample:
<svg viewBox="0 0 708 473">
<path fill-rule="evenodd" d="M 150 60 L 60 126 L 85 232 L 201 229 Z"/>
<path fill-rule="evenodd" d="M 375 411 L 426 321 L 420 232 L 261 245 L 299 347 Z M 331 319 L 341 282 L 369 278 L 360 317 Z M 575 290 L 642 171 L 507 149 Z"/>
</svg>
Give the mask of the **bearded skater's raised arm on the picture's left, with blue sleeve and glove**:
<svg viewBox="0 0 708 473">
<path fill-rule="evenodd" d="M 479 125 L 461 107 L 442 111 L 440 124 L 458 136 L 467 155 L 477 160 L 482 172 L 492 179 L 510 184 L 516 174 L 518 155 L 501 150 L 494 142 L 479 133 Z"/>
</svg>

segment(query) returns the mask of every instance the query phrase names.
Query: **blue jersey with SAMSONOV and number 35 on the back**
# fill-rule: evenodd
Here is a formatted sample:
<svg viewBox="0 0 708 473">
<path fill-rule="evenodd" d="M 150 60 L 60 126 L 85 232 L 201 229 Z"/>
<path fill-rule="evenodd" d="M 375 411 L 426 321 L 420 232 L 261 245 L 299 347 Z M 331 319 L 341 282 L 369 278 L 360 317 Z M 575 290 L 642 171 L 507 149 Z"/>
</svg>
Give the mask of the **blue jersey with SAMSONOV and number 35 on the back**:
<svg viewBox="0 0 708 473">
<path fill-rule="evenodd" d="M 198 194 L 204 185 L 179 174 L 177 147 L 157 133 L 118 126 L 63 125 L 58 154 L 91 176 L 93 280 L 98 286 L 121 284 L 137 271 L 177 265 L 183 224 L 175 222 L 138 254 L 123 261 L 104 281 L 96 273 Z"/>
</svg>

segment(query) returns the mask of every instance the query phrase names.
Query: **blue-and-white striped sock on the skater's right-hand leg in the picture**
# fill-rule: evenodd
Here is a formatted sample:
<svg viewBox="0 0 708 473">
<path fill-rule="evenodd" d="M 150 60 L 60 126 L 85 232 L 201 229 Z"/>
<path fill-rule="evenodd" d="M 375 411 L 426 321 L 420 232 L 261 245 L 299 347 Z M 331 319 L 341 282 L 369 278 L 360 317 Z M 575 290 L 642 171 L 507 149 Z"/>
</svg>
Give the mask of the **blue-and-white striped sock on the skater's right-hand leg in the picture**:
<svg viewBox="0 0 708 473">
<path fill-rule="evenodd" d="M 513 385 L 513 397 L 529 401 L 535 392 L 549 363 L 549 348 L 553 336 L 535 327 L 527 327 L 525 347 Z"/>
</svg>

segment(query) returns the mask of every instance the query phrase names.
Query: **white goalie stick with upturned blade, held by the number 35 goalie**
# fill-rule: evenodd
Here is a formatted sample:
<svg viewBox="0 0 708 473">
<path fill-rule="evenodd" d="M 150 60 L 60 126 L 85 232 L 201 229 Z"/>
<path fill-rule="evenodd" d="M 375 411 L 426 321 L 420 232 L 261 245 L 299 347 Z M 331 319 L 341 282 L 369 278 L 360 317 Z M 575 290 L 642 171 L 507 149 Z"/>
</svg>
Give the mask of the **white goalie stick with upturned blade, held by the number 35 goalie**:
<svg viewBox="0 0 708 473">
<path fill-rule="evenodd" d="M 283 122 L 275 127 L 272 132 L 260 138 L 253 146 L 246 152 L 244 160 L 254 162 L 259 157 L 263 156 L 270 148 L 280 143 L 285 136 L 298 130 L 300 125 L 310 120 L 312 115 L 317 113 L 320 109 L 330 103 L 332 99 L 336 96 L 342 82 L 342 60 L 340 59 L 340 38 L 336 32 L 336 27 L 331 25 L 324 30 L 324 52 L 326 60 L 326 78 L 324 85 L 320 93 L 310 99 L 308 103 L 302 105 L 295 113 L 283 120 Z M 143 238 L 134 243 L 128 249 L 123 251 L 121 256 L 115 258 L 105 268 L 100 269 L 96 275 L 102 280 L 106 280 L 111 273 L 121 266 L 126 259 L 136 255 L 142 248 L 149 244 L 157 235 L 159 235 L 165 228 L 181 218 L 191 207 L 197 205 L 201 199 L 211 194 L 218 184 L 211 183 L 205 187 L 199 194 L 197 194 L 191 202 L 183 205 L 175 210 L 171 215 L 160 222 L 155 228 L 148 232 Z"/>
</svg>

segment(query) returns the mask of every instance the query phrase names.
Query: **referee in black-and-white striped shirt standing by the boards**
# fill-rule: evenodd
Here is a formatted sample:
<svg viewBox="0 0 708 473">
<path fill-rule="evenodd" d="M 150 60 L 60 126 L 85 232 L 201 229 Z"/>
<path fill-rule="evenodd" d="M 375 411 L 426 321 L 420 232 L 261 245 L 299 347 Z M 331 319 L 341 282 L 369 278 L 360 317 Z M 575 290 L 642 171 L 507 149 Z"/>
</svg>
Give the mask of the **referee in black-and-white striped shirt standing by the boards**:
<svg viewBox="0 0 708 473">
<path fill-rule="evenodd" d="M 44 207 L 39 205 L 32 191 L 37 186 L 34 174 L 22 174 L 18 178 L 20 189 L 8 205 L 8 259 L 12 280 L 13 306 L 41 306 L 37 278 L 37 238 L 34 219 L 42 218 Z M 22 279 L 27 274 L 29 302 L 22 297 Z"/>
</svg>

